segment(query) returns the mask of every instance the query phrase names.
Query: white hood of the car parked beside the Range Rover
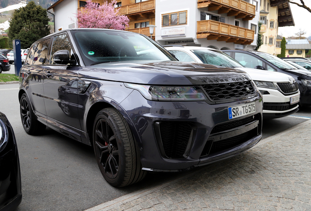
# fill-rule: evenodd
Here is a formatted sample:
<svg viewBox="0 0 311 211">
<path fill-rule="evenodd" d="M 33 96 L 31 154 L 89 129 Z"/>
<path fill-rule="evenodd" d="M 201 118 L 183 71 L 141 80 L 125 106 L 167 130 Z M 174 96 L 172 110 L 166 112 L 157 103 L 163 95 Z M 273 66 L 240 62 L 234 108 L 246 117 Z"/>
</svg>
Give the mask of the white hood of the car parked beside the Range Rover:
<svg viewBox="0 0 311 211">
<path fill-rule="evenodd" d="M 266 81 L 266 82 L 293 82 L 294 78 L 279 72 L 272 72 L 268 70 L 258 70 L 247 67 L 237 67 L 236 69 L 240 69 L 245 71 L 252 80 L 254 81 Z"/>
</svg>

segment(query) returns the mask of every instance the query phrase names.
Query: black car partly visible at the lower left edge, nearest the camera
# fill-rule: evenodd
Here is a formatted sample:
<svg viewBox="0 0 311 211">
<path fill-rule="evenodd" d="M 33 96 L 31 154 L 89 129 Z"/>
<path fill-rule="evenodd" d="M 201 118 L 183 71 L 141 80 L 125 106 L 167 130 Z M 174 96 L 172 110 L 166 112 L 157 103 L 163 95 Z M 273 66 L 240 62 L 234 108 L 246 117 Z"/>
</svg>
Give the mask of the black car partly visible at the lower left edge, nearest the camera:
<svg viewBox="0 0 311 211">
<path fill-rule="evenodd" d="M 12 126 L 0 112 L 0 211 L 14 211 L 22 201 L 21 169 Z"/>
</svg>

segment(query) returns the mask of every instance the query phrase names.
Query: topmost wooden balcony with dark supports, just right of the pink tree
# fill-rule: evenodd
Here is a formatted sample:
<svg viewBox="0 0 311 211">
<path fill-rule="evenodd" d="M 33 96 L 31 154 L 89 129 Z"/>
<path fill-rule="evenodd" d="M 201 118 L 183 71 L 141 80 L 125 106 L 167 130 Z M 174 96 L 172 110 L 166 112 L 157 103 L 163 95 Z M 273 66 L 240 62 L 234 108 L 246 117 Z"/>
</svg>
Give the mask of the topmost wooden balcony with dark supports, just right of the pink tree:
<svg viewBox="0 0 311 211">
<path fill-rule="evenodd" d="M 126 15 L 130 21 L 137 20 L 137 17 L 150 18 L 150 15 L 155 16 L 155 0 L 147 0 L 139 3 L 133 3 L 120 8 L 119 14 Z"/>
</svg>

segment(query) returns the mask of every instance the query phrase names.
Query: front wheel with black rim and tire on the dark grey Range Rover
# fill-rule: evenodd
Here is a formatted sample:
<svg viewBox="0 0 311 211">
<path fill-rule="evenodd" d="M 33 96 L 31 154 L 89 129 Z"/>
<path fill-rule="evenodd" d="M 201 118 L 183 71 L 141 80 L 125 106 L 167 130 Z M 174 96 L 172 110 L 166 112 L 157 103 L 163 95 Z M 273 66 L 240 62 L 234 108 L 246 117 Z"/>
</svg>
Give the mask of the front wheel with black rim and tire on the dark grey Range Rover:
<svg viewBox="0 0 311 211">
<path fill-rule="evenodd" d="M 145 177 L 130 127 L 115 108 L 104 108 L 96 115 L 93 147 L 98 167 L 111 186 L 128 186 Z"/>
</svg>

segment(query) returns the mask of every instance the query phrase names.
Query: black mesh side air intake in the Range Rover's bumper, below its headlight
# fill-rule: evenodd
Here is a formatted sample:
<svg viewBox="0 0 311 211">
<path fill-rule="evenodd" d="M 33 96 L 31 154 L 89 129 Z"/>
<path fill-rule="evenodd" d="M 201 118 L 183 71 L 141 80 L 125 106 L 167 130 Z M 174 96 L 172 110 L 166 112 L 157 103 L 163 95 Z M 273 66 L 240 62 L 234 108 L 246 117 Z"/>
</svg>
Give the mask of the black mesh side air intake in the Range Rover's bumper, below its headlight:
<svg viewBox="0 0 311 211">
<path fill-rule="evenodd" d="M 160 149 L 162 156 L 168 158 L 187 157 L 186 149 L 192 140 L 191 133 L 193 126 L 187 122 L 160 122 L 159 133 L 161 139 Z M 159 141 L 159 140 L 158 140 Z"/>
</svg>

